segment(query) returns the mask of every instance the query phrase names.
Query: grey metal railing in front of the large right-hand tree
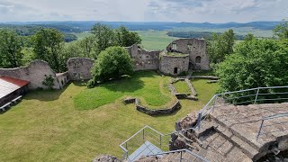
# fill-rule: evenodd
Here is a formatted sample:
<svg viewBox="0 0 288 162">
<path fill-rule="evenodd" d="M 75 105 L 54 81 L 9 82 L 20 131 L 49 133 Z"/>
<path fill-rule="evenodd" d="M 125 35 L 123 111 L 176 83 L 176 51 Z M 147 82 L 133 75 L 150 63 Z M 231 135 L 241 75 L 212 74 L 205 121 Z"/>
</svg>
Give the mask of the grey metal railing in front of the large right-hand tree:
<svg viewBox="0 0 288 162">
<path fill-rule="evenodd" d="M 198 113 L 195 129 L 201 128 L 201 123 L 219 103 L 232 103 L 234 105 L 247 105 L 257 103 L 283 103 L 288 101 L 288 86 L 257 87 L 246 90 L 214 94 Z"/>
</svg>

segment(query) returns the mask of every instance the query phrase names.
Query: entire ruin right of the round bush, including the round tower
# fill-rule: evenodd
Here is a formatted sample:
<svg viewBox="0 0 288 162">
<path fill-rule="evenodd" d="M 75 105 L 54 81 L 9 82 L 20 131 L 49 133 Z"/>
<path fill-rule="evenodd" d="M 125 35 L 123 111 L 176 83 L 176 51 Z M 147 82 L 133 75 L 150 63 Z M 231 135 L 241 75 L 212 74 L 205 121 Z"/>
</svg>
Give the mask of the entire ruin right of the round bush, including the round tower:
<svg viewBox="0 0 288 162">
<path fill-rule="evenodd" d="M 174 40 L 163 51 L 140 49 L 137 44 L 126 49 L 134 59 L 136 71 L 159 70 L 166 75 L 177 76 L 189 69 L 210 69 L 206 41 L 202 39 Z"/>
</svg>

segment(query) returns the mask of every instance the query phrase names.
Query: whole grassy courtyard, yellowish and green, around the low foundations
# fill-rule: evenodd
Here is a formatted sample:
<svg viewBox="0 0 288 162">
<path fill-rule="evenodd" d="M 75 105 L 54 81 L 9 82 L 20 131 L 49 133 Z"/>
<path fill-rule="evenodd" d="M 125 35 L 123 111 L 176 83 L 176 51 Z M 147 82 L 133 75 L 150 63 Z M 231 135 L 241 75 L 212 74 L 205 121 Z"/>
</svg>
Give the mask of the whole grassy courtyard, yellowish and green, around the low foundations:
<svg viewBox="0 0 288 162">
<path fill-rule="evenodd" d="M 137 130 L 145 125 L 163 133 L 174 130 L 175 121 L 201 109 L 218 88 L 193 80 L 200 100 L 183 100 L 180 111 L 166 116 L 151 117 L 121 102 L 133 95 L 152 105 L 169 103 L 167 79 L 144 72 L 91 90 L 72 83 L 59 91 L 30 92 L 0 114 L 0 161 L 91 161 L 102 153 L 121 157 L 118 145 Z"/>
</svg>

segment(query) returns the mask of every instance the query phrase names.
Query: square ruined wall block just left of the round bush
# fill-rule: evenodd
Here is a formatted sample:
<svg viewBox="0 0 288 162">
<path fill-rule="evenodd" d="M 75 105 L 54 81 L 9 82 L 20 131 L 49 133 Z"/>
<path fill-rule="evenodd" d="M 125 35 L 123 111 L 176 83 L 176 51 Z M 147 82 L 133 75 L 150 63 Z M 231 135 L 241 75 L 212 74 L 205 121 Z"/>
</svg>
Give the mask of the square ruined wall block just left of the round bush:
<svg viewBox="0 0 288 162">
<path fill-rule="evenodd" d="M 91 68 L 94 60 L 90 58 L 69 58 L 67 61 L 68 75 L 70 80 L 91 79 Z"/>
</svg>

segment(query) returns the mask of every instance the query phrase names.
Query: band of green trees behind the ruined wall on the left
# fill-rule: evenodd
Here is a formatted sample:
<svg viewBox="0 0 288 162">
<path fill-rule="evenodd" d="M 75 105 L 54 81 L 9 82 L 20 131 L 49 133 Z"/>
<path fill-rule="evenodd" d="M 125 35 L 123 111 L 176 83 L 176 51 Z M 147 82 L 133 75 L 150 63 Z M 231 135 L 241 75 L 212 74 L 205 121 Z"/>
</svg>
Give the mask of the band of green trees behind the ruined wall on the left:
<svg viewBox="0 0 288 162">
<path fill-rule="evenodd" d="M 0 67 L 19 67 L 32 59 L 42 59 L 56 72 L 66 70 L 67 58 L 95 59 L 109 47 L 125 47 L 141 41 L 136 32 L 128 31 L 125 27 L 112 29 L 100 23 L 94 25 L 89 37 L 68 44 L 63 32 L 50 28 L 39 28 L 29 37 L 14 30 L 2 29 L 0 40 Z"/>
</svg>

